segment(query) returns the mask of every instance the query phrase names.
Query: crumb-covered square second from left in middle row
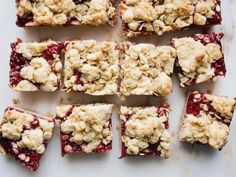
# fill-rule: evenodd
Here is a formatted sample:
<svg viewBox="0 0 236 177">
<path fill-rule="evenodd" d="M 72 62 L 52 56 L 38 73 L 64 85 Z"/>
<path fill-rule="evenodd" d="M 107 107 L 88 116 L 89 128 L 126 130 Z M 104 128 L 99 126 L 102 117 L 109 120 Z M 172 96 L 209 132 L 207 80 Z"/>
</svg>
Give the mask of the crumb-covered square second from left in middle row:
<svg viewBox="0 0 236 177">
<path fill-rule="evenodd" d="M 68 42 L 65 51 L 65 89 L 92 95 L 116 94 L 118 63 L 118 50 L 114 42 Z"/>
</svg>

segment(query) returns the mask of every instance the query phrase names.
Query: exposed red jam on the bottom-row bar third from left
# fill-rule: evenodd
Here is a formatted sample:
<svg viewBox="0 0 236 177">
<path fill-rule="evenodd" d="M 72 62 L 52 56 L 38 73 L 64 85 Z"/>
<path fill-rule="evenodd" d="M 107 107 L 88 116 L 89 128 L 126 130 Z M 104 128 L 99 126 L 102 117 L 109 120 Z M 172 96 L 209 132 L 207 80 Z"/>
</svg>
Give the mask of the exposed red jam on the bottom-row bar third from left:
<svg viewBox="0 0 236 177">
<path fill-rule="evenodd" d="M 168 117 L 169 115 L 169 108 L 170 108 L 170 105 L 168 104 L 164 104 L 162 106 L 159 106 L 157 107 L 157 118 L 165 115 Z M 130 117 L 132 116 L 132 114 L 127 114 L 126 115 L 126 121 L 128 119 L 130 119 Z M 125 134 L 125 123 L 126 122 L 122 122 L 121 124 L 121 136 L 126 136 Z M 165 122 L 165 128 L 168 129 L 169 128 L 169 121 L 166 121 Z M 160 155 L 160 152 L 157 150 L 157 147 L 159 146 L 159 142 L 158 143 L 155 143 L 155 144 L 151 144 L 149 143 L 149 146 L 145 149 L 145 152 L 140 152 L 138 155 L 145 155 L 145 156 L 159 156 Z M 125 144 L 122 142 L 122 151 L 121 151 L 121 158 L 123 157 L 126 157 L 126 156 L 132 156 L 130 154 L 127 153 L 127 147 L 125 146 Z"/>
</svg>

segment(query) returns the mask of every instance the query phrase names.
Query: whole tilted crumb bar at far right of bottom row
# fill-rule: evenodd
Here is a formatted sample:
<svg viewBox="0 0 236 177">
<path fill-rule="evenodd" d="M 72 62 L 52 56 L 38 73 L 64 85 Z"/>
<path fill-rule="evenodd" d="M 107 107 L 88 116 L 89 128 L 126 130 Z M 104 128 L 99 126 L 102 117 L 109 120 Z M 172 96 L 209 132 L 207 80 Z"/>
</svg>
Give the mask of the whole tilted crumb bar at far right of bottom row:
<svg viewBox="0 0 236 177">
<path fill-rule="evenodd" d="M 180 141 L 222 149 L 228 141 L 236 100 L 190 92 L 180 126 Z"/>
</svg>

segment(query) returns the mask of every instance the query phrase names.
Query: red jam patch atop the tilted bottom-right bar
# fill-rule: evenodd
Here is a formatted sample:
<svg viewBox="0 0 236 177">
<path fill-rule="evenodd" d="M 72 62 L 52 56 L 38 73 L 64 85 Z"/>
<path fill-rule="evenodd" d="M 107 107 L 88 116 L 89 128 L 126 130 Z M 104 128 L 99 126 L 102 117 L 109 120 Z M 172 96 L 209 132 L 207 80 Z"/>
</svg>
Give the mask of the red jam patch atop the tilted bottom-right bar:
<svg viewBox="0 0 236 177">
<path fill-rule="evenodd" d="M 203 107 L 207 107 L 207 110 L 203 109 Z M 186 114 L 193 114 L 196 118 L 199 118 L 200 111 L 204 111 L 206 114 L 211 114 L 212 116 L 216 115 L 216 117 L 221 117 L 221 122 L 224 122 L 224 117 L 217 112 L 214 107 L 211 105 L 211 101 L 207 100 L 203 93 L 189 93 L 187 105 L 186 105 Z M 230 123 L 225 123 L 230 125 Z"/>
</svg>

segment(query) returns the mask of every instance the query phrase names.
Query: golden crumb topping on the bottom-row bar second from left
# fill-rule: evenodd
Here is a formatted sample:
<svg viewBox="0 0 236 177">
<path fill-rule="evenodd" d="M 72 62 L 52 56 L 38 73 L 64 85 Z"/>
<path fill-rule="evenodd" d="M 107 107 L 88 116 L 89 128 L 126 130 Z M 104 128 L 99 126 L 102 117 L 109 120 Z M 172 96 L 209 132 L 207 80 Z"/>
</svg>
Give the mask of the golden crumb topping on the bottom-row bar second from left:
<svg viewBox="0 0 236 177">
<path fill-rule="evenodd" d="M 70 135 L 69 141 L 80 145 L 83 152 L 91 153 L 112 141 L 112 108 L 103 104 L 59 106 L 57 117 L 62 121 L 61 132 Z M 72 145 L 64 148 L 66 152 L 71 151 Z"/>
</svg>

